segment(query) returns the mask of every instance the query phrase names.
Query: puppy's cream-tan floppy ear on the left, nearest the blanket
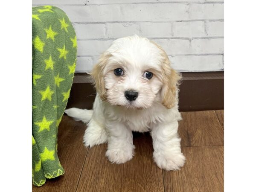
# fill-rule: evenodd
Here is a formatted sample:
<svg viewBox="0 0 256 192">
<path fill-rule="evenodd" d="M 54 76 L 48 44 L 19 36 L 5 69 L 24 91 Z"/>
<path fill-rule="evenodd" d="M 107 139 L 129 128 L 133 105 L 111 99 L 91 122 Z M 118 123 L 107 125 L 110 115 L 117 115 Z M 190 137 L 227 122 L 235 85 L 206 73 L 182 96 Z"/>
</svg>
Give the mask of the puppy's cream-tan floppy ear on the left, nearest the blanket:
<svg viewBox="0 0 256 192">
<path fill-rule="evenodd" d="M 106 99 L 106 88 L 105 88 L 103 70 L 105 68 L 105 65 L 109 57 L 110 57 L 109 54 L 103 53 L 99 58 L 99 62 L 93 67 L 92 73 L 90 74 L 93 77 L 96 91 L 102 100 Z"/>
</svg>

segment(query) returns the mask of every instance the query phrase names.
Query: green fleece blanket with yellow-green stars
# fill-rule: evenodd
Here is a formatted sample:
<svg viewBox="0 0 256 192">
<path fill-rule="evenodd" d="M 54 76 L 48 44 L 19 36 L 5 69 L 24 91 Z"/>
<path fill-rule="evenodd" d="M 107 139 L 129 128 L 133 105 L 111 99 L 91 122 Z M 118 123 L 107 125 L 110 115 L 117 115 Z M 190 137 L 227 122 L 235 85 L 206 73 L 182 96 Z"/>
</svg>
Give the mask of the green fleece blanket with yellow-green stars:
<svg viewBox="0 0 256 192">
<path fill-rule="evenodd" d="M 54 6 L 32 8 L 32 183 L 64 174 L 57 154 L 58 125 L 76 68 L 76 33 Z"/>
</svg>

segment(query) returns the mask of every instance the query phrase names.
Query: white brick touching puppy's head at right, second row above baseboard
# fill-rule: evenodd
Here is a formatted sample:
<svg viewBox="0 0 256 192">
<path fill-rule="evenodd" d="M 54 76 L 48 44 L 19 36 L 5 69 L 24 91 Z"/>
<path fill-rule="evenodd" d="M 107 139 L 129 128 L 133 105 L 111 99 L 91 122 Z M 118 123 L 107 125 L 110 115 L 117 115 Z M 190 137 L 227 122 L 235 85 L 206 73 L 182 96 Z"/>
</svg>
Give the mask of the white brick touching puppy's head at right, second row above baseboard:
<svg viewBox="0 0 256 192">
<path fill-rule="evenodd" d="M 184 39 L 153 39 L 166 51 L 167 55 L 189 54 L 189 40 Z"/>
</svg>

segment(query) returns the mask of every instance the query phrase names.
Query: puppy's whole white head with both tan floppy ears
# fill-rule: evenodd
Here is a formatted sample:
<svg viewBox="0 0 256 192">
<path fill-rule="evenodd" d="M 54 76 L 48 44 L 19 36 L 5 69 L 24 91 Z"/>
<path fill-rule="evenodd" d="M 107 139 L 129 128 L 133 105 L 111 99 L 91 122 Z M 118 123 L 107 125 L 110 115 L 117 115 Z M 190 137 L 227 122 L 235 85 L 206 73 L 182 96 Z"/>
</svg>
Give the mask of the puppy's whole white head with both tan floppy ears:
<svg viewBox="0 0 256 192">
<path fill-rule="evenodd" d="M 180 76 L 159 45 L 137 35 L 119 38 L 92 71 L 97 93 L 111 105 L 149 108 L 154 101 L 172 108 Z"/>
</svg>

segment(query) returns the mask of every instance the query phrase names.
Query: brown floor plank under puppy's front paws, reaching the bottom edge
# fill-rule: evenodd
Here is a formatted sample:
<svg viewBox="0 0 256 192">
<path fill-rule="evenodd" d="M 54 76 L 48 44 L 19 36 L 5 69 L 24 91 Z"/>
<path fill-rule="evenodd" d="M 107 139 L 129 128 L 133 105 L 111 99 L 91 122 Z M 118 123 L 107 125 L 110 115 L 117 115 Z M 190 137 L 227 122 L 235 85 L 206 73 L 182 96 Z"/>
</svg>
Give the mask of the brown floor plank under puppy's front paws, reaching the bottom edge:
<svg viewBox="0 0 256 192">
<path fill-rule="evenodd" d="M 134 134 L 136 154 L 124 164 L 112 164 L 105 157 L 107 145 L 90 148 L 77 191 L 115 192 L 163 191 L 162 170 L 153 162 L 149 134 Z"/>
</svg>

